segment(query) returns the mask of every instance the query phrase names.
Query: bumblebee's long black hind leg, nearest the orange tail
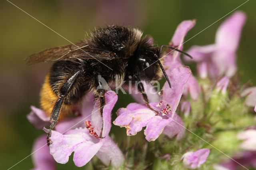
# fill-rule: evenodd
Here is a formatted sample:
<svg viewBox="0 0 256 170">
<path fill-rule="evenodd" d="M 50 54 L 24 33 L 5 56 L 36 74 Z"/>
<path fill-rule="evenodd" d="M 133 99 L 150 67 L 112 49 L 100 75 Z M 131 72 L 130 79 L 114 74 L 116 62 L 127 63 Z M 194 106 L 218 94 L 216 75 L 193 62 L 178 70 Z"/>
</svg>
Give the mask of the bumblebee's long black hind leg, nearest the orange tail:
<svg viewBox="0 0 256 170">
<path fill-rule="evenodd" d="M 50 137 L 51 137 L 51 132 L 52 129 L 55 127 L 56 123 L 58 122 L 58 118 L 60 115 L 60 109 L 62 107 L 62 103 L 64 98 L 68 95 L 68 93 L 70 92 L 70 90 L 72 89 L 74 83 L 76 82 L 76 79 L 78 77 L 78 75 L 82 72 L 82 70 L 78 70 L 76 71 L 76 73 L 74 73 L 65 83 L 64 85 L 60 88 L 60 93 L 59 93 L 59 99 L 56 101 L 54 108 L 52 110 L 52 115 L 50 118 L 50 121 L 52 121 L 52 124 L 50 125 L 50 129 L 47 132 L 47 145 L 49 146 L 52 141 L 50 141 Z"/>
</svg>

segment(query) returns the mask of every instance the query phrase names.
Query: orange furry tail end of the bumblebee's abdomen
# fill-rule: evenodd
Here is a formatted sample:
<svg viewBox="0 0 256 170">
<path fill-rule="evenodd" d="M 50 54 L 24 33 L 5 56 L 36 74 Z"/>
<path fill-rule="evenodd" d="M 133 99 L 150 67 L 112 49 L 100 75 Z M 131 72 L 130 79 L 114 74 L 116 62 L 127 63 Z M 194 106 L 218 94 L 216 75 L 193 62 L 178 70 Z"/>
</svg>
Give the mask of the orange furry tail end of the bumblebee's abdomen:
<svg viewBox="0 0 256 170">
<path fill-rule="evenodd" d="M 48 73 L 40 91 L 40 105 L 49 117 L 51 116 L 53 107 L 58 99 L 59 97 L 52 91 L 52 85 L 50 84 L 50 74 Z M 63 103 L 60 110 L 59 120 L 63 119 L 70 113 L 73 113 L 75 110 L 76 105 L 67 105 Z"/>
</svg>

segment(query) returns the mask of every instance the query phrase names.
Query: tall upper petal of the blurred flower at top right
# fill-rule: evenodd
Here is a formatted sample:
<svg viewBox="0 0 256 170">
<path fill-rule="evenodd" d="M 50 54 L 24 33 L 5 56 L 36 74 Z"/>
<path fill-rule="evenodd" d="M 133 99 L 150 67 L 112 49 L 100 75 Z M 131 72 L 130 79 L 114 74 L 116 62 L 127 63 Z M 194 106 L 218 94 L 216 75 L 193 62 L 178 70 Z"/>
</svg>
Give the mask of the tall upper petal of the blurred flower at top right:
<svg viewBox="0 0 256 170">
<path fill-rule="evenodd" d="M 225 20 L 216 33 L 215 41 L 218 47 L 236 51 L 245 21 L 246 15 L 240 11 L 234 12 Z"/>
</svg>

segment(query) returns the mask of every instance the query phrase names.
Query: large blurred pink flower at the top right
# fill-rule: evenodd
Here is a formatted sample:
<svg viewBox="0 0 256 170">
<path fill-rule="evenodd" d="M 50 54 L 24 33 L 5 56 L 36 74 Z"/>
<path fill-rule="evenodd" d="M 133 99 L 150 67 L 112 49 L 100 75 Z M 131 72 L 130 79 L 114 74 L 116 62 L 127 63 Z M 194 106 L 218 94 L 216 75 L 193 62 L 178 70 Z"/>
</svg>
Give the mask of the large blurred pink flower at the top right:
<svg viewBox="0 0 256 170">
<path fill-rule="evenodd" d="M 218 28 L 214 44 L 193 46 L 188 50 L 193 59 L 185 60 L 198 62 L 198 72 L 203 79 L 207 75 L 232 77 L 236 73 L 236 49 L 245 20 L 243 12 L 235 12 Z"/>
</svg>

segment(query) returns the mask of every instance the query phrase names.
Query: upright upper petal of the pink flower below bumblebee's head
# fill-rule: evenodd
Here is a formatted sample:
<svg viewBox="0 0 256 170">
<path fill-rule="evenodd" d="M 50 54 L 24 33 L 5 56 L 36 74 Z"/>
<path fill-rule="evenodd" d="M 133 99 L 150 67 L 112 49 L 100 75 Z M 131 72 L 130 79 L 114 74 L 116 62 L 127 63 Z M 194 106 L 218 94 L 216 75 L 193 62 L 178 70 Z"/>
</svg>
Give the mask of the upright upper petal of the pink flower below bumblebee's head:
<svg viewBox="0 0 256 170">
<path fill-rule="evenodd" d="M 184 84 L 188 81 L 190 74 L 191 70 L 189 67 L 178 67 L 169 75 L 172 88 L 169 87 L 167 82 L 164 83 L 164 87 L 162 88 L 162 100 L 172 106 L 172 113 L 175 113 L 178 107 Z"/>
</svg>

